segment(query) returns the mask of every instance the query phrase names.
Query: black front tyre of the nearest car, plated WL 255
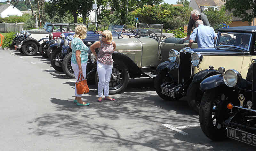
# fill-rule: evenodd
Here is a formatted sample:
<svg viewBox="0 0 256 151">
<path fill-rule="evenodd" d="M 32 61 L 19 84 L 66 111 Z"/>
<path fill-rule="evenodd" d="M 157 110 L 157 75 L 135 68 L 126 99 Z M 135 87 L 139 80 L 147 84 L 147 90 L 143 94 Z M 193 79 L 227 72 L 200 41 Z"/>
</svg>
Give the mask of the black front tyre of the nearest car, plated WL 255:
<svg viewBox="0 0 256 151">
<path fill-rule="evenodd" d="M 218 98 L 220 93 L 218 92 L 217 88 L 207 90 L 202 98 L 202 102 L 200 105 L 199 111 L 199 122 L 202 131 L 204 134 L 212 139 L 212 140 L 224 140 L 227 138 L 226 136 L 226 128 L 221 127 L 220 129 L 217 128 L 217 121 L 214 123 L 215 119 L 215 109 L 213 106 L 217 106 L 216 98 Z"/>
</svg>

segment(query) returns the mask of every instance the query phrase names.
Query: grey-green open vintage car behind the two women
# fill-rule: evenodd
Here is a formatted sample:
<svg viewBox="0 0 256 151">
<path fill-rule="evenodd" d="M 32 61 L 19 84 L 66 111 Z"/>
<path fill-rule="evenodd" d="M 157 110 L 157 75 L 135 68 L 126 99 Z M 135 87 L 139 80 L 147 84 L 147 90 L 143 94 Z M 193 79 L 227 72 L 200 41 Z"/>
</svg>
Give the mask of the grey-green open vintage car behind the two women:
<svg viewBox="0 0 256 151">
<path fill-rule="evenodd" d="M 114 39 L 116 42 L 116 50 L 112 54 L 113 70 L 110 79 L 109 93 L 115 94 L 123 91 L 129 82 L 130 78 L 147 77 L 152 78 L 155 75 L 151 74 L 157 65 L 168 59 L 168 53 L 173 48 L 185 48 L 188 41 L 184 42 L 181 38 L 162 39 L 163 25 L 158 24 L 139 24 L 139 35 L 135 38 Z M 193 44 L 197 48 L 197 44 Z M 98 50 L 96 50 L 98 53 Z M 87 63 L 87 79 L 95 80 L 98 83 L 97 64 L 95 57 L 91 51 L 88 52 Z M 71 54 L 66 57 L 71 58 Z M 65 60 L 65 58 L 63 59 Z M 63 70 L 72 72 L 70 60 L 63 62 Z M 66 64 L 66 65 L 65 65 Z M 72 73 L 74 74 L 74 72 Z"/>
</svg>

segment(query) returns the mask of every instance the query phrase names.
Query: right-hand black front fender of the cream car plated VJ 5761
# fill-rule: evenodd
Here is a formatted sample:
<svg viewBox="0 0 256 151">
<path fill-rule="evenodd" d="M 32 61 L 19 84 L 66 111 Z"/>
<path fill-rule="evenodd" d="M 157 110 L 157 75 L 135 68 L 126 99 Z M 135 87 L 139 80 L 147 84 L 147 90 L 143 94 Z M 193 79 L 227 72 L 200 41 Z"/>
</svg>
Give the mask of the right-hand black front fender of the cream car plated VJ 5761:
<svg viewBox="0 0 256 151">
<path fill-rule="evenodd" d="M 210 77 L 212 75 L 216 75 L 216 74 L 220 74 L 218 72 L 218 70 L 215 69 L 205 69 L 205 70 L 201 70 L 199 72 L 197 72 L 192 79 L 191 83 L 196 83 L 196 82 L 201 82 L 203 81 L 205 78 Z"/>
</svg>

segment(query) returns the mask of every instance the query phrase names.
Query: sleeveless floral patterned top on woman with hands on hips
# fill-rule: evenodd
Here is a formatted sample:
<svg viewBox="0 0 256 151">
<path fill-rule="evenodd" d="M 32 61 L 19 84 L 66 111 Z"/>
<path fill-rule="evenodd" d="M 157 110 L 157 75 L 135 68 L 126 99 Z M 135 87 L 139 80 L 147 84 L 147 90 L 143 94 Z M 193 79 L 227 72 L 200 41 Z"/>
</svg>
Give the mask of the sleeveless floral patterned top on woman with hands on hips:
<svg viewBox="0 0 256 151">
<path fill-rule="evenodd" d="M 100 41 L 100 49 L 98 54 L 98 61 L 103 64 L 113 64 L 112 54 L 114 52 L 114 46 L 111 42 L 107 44 L 103 41 Z"/>
</svg>

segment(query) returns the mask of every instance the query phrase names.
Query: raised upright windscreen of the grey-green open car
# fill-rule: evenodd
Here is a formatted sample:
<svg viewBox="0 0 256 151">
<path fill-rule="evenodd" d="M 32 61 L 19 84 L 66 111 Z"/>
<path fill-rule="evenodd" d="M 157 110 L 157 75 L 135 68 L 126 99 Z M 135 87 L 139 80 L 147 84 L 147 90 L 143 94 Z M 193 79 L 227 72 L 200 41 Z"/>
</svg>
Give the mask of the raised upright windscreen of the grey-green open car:
<svg viewBox="0 0 256 151">
<path fill-rule="evenodd" d="M 139 32 L 140 36 L 150 36 L 155 37 L 158 40 L 161 40 L 163 25 L 156 24 L 139 24 Z"/>
</svg>

